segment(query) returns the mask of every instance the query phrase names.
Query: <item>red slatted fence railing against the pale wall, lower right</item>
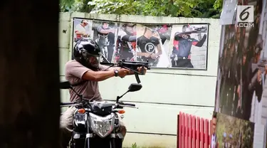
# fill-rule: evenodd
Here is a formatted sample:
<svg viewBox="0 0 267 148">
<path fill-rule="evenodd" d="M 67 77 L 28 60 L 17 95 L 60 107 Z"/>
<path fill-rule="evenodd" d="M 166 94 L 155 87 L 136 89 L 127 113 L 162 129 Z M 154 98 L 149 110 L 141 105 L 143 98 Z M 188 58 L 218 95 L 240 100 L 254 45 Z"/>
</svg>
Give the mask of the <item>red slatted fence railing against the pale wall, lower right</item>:
<svg viewBox="0 0 267 148">
<path fill-rule="evenodd" d="M 207 119 L 179 112 L 177 119 L 177 148 L 208 148 L 210 122 Z"/>
</svg>

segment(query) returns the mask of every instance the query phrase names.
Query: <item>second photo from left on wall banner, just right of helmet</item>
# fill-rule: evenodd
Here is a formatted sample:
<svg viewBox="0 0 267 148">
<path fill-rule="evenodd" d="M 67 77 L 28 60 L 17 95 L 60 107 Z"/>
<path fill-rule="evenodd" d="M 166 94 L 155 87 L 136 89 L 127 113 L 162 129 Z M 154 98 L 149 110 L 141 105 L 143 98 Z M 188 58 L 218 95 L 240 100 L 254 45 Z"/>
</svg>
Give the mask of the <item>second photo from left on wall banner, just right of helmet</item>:
<svg viewBox="0 0 267 148">
<path fill-rule="evenodd" d="M 119 26 L 112 21 L 93 21 L 92 39 L 98 43 L 103 63 L 113 63 Z"/>
</svg>

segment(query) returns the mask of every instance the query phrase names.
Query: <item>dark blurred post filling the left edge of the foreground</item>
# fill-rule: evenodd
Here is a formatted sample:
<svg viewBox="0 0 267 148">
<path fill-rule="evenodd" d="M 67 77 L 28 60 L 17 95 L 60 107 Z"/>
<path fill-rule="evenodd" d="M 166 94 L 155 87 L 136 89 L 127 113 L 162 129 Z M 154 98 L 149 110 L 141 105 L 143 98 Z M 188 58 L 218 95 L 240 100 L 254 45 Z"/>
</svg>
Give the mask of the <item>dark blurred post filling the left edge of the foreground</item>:
<svg viewBox="0 0 267 148">
<path fill-rule="evenodd" d="M 0 6 L 0 147 L 59 147 L 57 0 Z"/>
</svg>

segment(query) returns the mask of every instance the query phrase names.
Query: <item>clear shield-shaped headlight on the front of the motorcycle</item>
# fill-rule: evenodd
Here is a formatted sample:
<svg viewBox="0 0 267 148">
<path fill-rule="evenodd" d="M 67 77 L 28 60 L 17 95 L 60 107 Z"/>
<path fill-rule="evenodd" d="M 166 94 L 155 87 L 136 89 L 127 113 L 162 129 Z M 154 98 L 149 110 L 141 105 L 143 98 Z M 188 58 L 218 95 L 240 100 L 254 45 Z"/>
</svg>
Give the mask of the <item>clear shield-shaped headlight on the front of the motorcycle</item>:
<svg viewBox="0 0 267 148">
<path fill-rule="evenodd" d="M 89 113 L 90 115 L 90 127 L 100 137 L 106 137 L 114 128 L 115 115 L 112 113 L 105 117 L 100 117 Z"/>
</svg>

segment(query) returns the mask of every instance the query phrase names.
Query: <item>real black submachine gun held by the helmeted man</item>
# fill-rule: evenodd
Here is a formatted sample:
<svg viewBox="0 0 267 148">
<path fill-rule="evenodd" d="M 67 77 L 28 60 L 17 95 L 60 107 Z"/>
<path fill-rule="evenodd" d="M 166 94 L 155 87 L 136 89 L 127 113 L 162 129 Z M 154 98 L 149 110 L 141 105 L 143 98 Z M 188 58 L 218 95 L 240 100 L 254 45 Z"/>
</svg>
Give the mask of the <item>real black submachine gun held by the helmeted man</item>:
<svg viewBox="0 0 267 148">
<path fill-rule="evenodd" d="M 137 83 L 141 83 L 139 75 L 145 75 L 145 73 L 144 73 L 145 68 L 147 68 L 147 70 L 150 70 L 150 65 L 148 64 L 148 61 L 147 62 L 137 62 L 137 61 L 130 61 L 130 60 L 122 59 L 118 63 L 100 63 L 100 64 L 110 65 L 110 67 L 108 67 L 108 68 L 111 68 L 112 66 L 116 65 L 117 67 L 131 70 L 132 72 L 135 73 L 135 79 L 137 80 Z M 141 73 L 139 73 L 137 71 L 137 68 L 139 68 L 139 67 L 141 67 Z"/>
</svg>

